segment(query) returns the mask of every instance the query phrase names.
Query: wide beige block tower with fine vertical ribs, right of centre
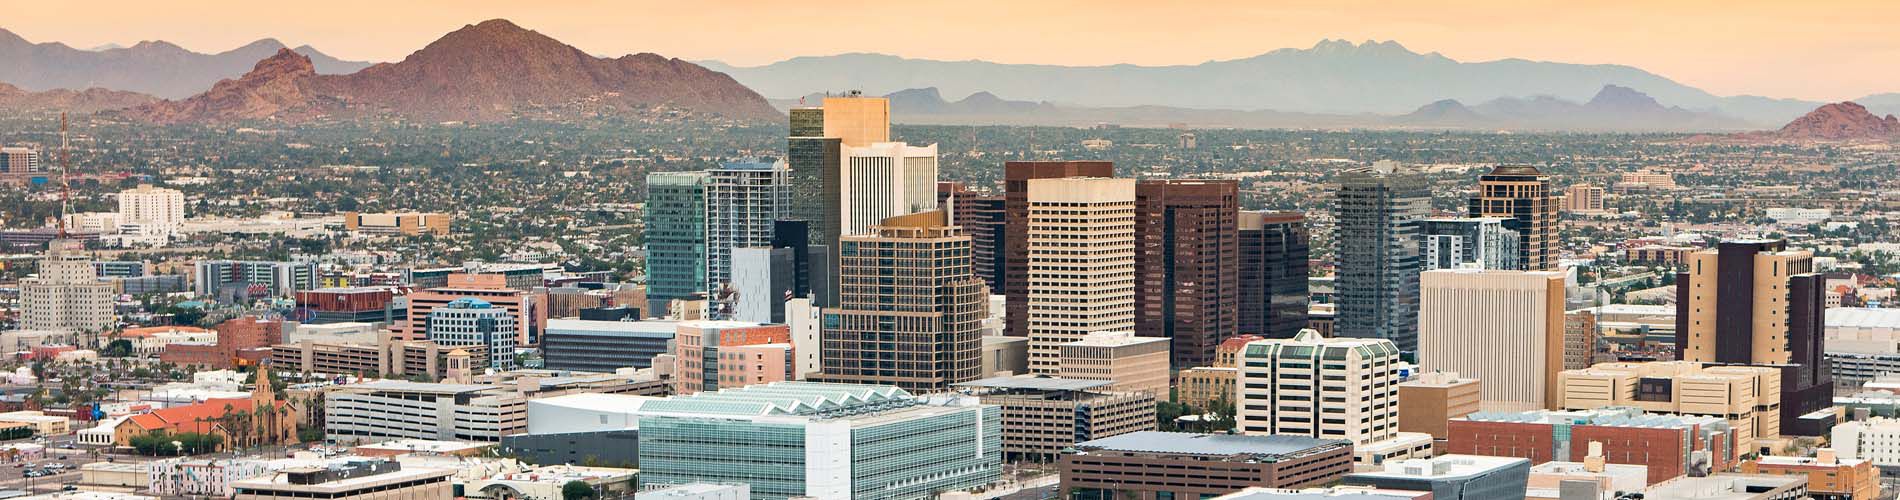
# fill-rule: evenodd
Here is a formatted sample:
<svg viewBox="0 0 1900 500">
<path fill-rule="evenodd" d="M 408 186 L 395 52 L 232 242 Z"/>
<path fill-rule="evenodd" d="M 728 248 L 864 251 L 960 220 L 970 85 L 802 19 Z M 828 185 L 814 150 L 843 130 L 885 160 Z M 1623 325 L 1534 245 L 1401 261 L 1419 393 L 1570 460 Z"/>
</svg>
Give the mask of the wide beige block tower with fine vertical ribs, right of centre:
<svg viewBox="0 0 1900 500">
<path fill-rule="evenodd" d="M 1421 274 L 1419 369 L 1484 380 L 1486 411 L 1554 409 L 1564 371 L 1564 274 Z"/>
</svg>

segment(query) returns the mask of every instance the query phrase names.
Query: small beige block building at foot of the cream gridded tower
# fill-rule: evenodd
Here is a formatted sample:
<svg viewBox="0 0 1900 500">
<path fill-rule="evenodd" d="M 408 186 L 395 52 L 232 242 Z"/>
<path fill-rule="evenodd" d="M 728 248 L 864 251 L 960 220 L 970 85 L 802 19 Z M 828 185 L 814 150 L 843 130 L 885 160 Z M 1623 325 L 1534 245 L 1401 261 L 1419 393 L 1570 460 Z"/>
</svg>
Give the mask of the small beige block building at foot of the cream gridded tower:
<svg viewBox="0 0 1900 500">
<path fill-rule="evenodd" d="M 1144 392 L 1168 397 L 1168 338 L 1134 337 L 1132 331 L 1098 331 L 1062 344 L 1058 376 L 1110 380 L 1112 392 Z"/>
</svg>

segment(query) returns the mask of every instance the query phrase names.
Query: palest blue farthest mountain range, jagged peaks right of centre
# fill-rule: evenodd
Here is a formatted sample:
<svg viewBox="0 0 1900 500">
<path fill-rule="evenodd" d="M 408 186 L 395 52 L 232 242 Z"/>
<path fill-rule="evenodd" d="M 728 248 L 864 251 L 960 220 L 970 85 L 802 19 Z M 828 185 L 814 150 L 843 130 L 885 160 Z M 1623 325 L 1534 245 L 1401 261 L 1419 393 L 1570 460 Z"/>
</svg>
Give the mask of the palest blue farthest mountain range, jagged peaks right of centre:
<svg viewBox="0 0 1900 500">
<path fill-rule="evenodd" d="M 1799 99 L 1720 97 L 1624 65 L 1526 59 L 1461 63 L 1396 42 L 1324 40 L 1307 49 L 1180 67 L 1054 67 L 929 61 L 880 53 L 794 57 L 764 67 L 705 61 L 770 97 L 861 89 L 893 93 L 939 87 L 946 95 L 990 91 L 1068 106 L 1174 106 L 1313 114 L 1406 114 L 1454 99 L 1488 103 L 1539 95 L 1585 103 L 1604 86 L 1638 89 L 1666 106 L 1721 112 L 1754 125 L 1782 124 L 1822 105 Z M 1900 108 L 1900 99 L 1894 103 Z M 1879 108 L 1879 106 L 1875 106 Z"/>
</svg>

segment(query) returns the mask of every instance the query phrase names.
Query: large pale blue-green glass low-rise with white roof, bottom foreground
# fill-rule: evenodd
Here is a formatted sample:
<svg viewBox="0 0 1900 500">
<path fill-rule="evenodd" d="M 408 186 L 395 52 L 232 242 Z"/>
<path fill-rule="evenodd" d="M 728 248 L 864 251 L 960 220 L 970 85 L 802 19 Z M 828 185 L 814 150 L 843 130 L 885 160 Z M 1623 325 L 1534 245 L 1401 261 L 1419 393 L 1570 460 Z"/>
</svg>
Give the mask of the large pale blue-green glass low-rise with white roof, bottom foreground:
<svg viewBox="0 0 1900 500">
<path fill-rule="evenodd" d="M 754 498 L 933 498 L 1001 477 L 1001 409 L 895 386 L 775 382 L 640 405 L 640 483 Z M 760 471 L 773 471 L 770 477 Z"/>
</svg>

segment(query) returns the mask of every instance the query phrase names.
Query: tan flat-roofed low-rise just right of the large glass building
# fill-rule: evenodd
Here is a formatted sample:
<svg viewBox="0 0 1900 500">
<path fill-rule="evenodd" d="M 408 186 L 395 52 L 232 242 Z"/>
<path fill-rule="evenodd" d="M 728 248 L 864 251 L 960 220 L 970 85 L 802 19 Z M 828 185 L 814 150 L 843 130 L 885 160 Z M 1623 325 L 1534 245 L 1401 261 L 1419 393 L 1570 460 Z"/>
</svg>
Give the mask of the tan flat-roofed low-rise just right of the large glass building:
<svg viewBox="0 0 1900 500">
<path fill-rule="evenodd" d="M 992 376 L 956 388 L 1003 411 L 1003 456 L 1047 460 L 1079 441 L 1155 430 L 1155 397 L 1108 380 Z"/>
</svg>

